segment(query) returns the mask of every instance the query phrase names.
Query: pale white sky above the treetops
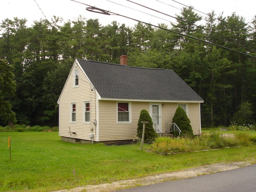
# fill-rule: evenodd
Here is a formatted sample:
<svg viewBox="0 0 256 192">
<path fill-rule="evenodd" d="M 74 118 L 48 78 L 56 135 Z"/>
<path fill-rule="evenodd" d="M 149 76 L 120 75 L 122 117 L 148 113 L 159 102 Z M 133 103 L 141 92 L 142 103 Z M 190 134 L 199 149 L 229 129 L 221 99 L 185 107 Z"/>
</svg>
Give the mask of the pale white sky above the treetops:
<svg viewBox="0 0 256 192">
<path fill-rule="evenodd" d="M 76 1 L 154 25 L 158 25 L 159 23 L 170 24 L 170 22 L 175 22 L 176 20 L 170 16 L 175 17 L 175 14 L 180 14 L 180 9 L 184 7 L 184 5 L 193 6 L 194 9 L 200 11 L 195 12 L 203 17 L 206 16 L 205 14 L 212 12 L 213 10 L 216 13 L 216 16 L 222 12 L 223 16 L 229 16 L 232 12 L 236 12 L 237 15 L 244 17 L 246 22 L 250 22 L 256 15 L 255 0 L 131 0 L 170 16 L 143 8 L 132 2 L 128 2 L 127 0 Z M 13 20 L 14 17 L 19 19 L 26 18 L 26 20 L 28 20 L 27 26 L 31 26 L 34 20 L 38 21 L 40 18 L 45 19 L 45 16 L 49 21 L 53 16 L 59 16 L 63 18 L 63 22 L 67 22 L 68 20 L 76 20 L 76 18 L 81 15 L 86 19 L 98 18 L 100 24 L 103 26 L 111 24 L 112 21 L 117 21 L 119 24 L 124 23 L 126 26 L 130 27 L 133 27 L 137 23 L 122 16 L 108 16 L 89 12 L 86 10 L 86 7 L 88 6 L 78 2 L 74 2 L 72 0 L 1 0 L 0 22 L 2 23 L 2 20 L 6 18 L 11 20 Z M 205 14 L 202 14 L 201 12 Z M 149 14 L 156 17 L 150 16 Z"/>
</svg>

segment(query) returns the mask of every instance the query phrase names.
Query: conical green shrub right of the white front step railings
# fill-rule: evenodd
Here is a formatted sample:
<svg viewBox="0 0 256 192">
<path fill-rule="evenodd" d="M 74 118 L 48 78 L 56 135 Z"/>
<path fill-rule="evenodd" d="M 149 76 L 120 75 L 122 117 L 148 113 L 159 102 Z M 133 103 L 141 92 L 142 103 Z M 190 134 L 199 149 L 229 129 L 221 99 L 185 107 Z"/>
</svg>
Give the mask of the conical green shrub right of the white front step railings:
<svg viewBox="0 0 256 192">
<path fill-rule="evenodd" d="M 176 109 L 172 122 L 178 125 L 182 135 L 194 136 L 192 126 L 190 125 L 190 120 L 184 109 L 182 109 L 180 106 L 178 106 Z"/>
</svg>

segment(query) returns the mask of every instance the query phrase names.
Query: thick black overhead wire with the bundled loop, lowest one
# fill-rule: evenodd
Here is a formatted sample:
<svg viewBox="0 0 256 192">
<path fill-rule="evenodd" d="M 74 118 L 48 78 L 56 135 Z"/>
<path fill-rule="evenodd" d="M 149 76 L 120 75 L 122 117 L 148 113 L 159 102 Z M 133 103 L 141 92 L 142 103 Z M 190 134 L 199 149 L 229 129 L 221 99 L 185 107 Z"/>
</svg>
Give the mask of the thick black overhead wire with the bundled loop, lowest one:
<svg viewBox="0 0 256 192">
<path fill-rule="evenodd" d="M 75 1 L 75 0 L 71 0 L 71 1 L 77 2 L 77 1 Z M 95 7 L 95 6 L 91 6 L 91 5 L 88 5 L 88 4 L 85 4 L 85 3 L 81 3 L 81 2 L 78 2 L 78 3 L 84 4 L 84 5 L 86 5 L 86 6 L 90 6 L 90 9 L 91 9 L 91 8 L 94 8 L 95 10 L 103 10 L 103 9 L 101 9 L 101 8 L 97 8 L 97 7 Z M 88 10 L 89 10 L 89 9 L 88 9 Z M 243 52 L 240 52 L 240 51 L 231 49 L 231 48 L 227 48 L 227 47 L 224 47 L 224 46 L 221 46 L 221 45 L 212 43 L 212 42 L 208 42 L 208 41 L 205 41 L 205 40 L 202 40 L 202 39 L 193 37 L 193 36 L 189 36 L 189 35 L 186 35 L 186 34 L 182 34 L 182 33 L 180 33 L 180 32 L 176 32 L 176 31 L 174 31 L 174 30 L 166 29 L 166 28 L 161 27 L 161 26 L 156 26 L 156 25 L 154 25 L 154 24 L 150 24 L 150 23 L 147 23 L 147 22 L 144 22 L 144 21 L 140 21 L 140 20 L 138 20 L 138 19 L 134 19 L 134 18 L 131 18 L 131 17 L 128 17 L 128 16 L 124 16 L 124 15 L 121 15 L 121 14 L 117 14 L 117 13 L 114 13 L 114 12 L 110 12 L 110 11 L 106 11 L 106 10 L 103 10 L 103 11 L 104 11 L 104 13 L 102 12 L 102 14 L 105 14 L 105 12 L 108 12 L 108 15 L 122 16 L 122 17 L 124 17 L 124 18 L 128 18 L 128 19 L 134 20 L 134 21 L 136 21 L 136 22 L 140 22 L 140 23 L 143 23 L 143 24 L 146 24 L 146 25 L 154 26 L 154 27 L 156 27 L 156 28 L 160 28 L 160 29 L 163 29 L 163 30 L 167 30 L 167 31 L 173 32 L 173 33 L 175 33 L 175 34 L 179 34 L 179 35 L 181 35 L 181 36 L 186 36 L 186 37 L 189 37 L 189 38 L 192 38 L 192 39 L 201 41 L 201 42 L 205 42 L 205 43 L 208 43 L 208 44 L 211 44 L 211 45 L 214 45 L 214 46 L 218 46 L 218 47 L 221 47 L 221 48 L 224 48 L 224 49 L 227 49 L 227 50 L 231 50 L 231 51 L 233 51 L 233 52 L 237 52 L 237 53 L 240 53 L 240 54 L 244 54 L 244 55 L 247 55 L 247 56 L 256 58 L 256 56 L 252 56 L 252 55 L 250 55 L 250 54 L 246 54 L 246 53 L 243 53 Z M 95 12 L 95 11 L 94 11 L 94 12 Z M 101 12 L 98 12 L 98 13 L 101 13 Z"/>
</svg>

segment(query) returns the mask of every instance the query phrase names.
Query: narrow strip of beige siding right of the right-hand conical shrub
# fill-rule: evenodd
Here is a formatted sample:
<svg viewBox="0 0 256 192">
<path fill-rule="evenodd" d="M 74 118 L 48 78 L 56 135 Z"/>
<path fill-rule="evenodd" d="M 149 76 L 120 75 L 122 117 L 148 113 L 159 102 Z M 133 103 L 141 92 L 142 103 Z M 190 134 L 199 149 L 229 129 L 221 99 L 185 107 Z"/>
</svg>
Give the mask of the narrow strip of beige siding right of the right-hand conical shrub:
<svg viewBox="0 0 256 192">
<path fill-rule="evenodd" d="M 199 135 L 201 130 L 199 103 L 188 103 L 188 118 L 194 135 Z"/>
</svg>

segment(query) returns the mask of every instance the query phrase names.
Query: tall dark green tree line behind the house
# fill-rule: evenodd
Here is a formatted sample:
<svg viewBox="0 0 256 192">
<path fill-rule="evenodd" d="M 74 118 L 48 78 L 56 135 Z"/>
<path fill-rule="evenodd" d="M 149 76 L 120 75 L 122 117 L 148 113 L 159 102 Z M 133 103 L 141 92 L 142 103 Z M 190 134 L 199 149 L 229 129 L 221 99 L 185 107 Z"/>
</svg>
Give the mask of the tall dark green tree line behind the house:
<svg viewBox="0 0 256 192">
<path fill-rule="evenodd" d="M 204 99 L 203 127 L 228 126 L 244 102 L 255 114 L 256 16 L 250 23 L 236 13 L 203 18 L 184 7 L 176 23 L 159 26 L 177 33 L 142 23 L 102 26 L 82 16 L 67 22 L 54 16 L 31 27 L 26 19 L 6 18 L 0 26 L 0 124 L 58 125 L 56 101 L 74 58 L 119 63 L 121 55 L 130 66 L 174 70 Z"/>
</svg>

